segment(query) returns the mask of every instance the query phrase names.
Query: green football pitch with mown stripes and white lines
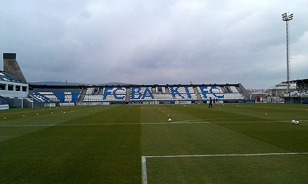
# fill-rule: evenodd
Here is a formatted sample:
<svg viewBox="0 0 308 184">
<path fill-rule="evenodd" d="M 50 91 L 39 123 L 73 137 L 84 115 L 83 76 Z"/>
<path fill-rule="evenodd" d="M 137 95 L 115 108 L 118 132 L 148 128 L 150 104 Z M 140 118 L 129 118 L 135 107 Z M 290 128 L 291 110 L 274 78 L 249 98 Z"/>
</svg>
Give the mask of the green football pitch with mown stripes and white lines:
<svg viewBox="0 0 308 184">
<path fill-rule="evenodd" d="M 0 183 L 308 183 L 307 109 L 199 104 L 2 110 Z"/>
</svg>

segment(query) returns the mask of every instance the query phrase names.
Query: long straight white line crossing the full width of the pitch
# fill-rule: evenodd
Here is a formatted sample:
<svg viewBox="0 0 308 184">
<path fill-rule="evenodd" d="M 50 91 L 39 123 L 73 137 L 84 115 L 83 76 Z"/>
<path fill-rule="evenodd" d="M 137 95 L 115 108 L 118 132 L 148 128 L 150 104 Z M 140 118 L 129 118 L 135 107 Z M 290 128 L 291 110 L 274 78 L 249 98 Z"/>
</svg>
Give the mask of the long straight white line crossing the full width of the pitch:
<svg viewBox="0 0 308 184">
<path fill-rule="evenodd" d="M 308 120 L 300 120 L 308 121 Z M 57 124 L 57 125 L 0 125 L 0 127 L 41 127 L 41 126 L 93 126 L 93 125 L 164 125 L 164 124 L 211 124 L 211 123 L 233 123 L 233 122 L 289 122 L 289 121 L 195 121 L 195 122 L 136 122 L 136 123 L 114 123 L 114 124 Z"/>
</svg>

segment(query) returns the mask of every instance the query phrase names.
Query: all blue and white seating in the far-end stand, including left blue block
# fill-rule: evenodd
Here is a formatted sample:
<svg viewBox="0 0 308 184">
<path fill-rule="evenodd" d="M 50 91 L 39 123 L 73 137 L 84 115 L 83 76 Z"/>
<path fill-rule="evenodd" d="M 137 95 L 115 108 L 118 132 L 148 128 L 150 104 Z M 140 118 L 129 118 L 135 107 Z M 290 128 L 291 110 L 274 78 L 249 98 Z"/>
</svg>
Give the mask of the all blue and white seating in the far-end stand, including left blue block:
<svg viewBox="0 0 308 184">
<path fill-rule="evenodd" d="M 197 93 L 195 90 L 197 89 Z M 227 90 L 226 90 L 227 89 Z M 80 90 L 80 89 L 79 89 Z M 235 86 L 162 86 L 162 87 L 89 87 L 83 89 L 81 101 L 174 101 L 174 100 L 208 100 L 209 97 L 219 100 L 241 100 L 243 95 Z M 127 90 L 129 90 L 127 92 Z M 66 90 L 63 92 L 40 91 L 33 92 L 35 101 L 45 103 L 62 103 L 78 101 L 80 92 Z M 304 93 L 302 93 L 304 94 Z M 129 95 L 129 99 L 126 98 Z M 199 97 L 198 97 L 199 96 Z"/>
</svg>

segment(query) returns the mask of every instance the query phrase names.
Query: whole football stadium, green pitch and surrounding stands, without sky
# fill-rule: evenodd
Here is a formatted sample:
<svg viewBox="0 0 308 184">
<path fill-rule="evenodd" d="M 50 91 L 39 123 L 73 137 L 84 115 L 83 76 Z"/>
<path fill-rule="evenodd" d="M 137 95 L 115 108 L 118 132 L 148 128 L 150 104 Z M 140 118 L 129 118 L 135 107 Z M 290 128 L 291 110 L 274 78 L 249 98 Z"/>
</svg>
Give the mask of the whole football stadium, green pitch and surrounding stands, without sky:
<svg viewBox="0 0 308 184">
<path fill-rule="evenodd" d="M 3 58 L 1 183 L 308 182 L 307 79 L 256 104 L 241 84 L 33 85 Z"/>
</svg>

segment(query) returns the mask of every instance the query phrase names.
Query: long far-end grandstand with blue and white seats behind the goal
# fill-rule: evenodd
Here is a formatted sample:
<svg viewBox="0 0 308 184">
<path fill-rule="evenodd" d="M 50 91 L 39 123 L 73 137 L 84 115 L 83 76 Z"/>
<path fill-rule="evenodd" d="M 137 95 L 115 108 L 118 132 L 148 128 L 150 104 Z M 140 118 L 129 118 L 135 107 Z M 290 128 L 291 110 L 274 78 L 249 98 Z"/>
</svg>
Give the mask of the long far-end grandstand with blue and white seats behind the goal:
<svg viewBox="0 0 308 184">
<path fill-rule="evenodd" d="M 47 86 L 29 85 L 35 103 L 142 104 L 147 101 L 174 104 L 178 101 L 207 103 L 209 97 L 220 103 L 249 100 L 241 84 L 226 85 L 128 85 L 128 86 Z"/>
</svg>

